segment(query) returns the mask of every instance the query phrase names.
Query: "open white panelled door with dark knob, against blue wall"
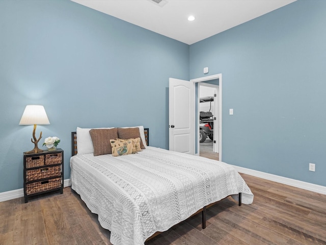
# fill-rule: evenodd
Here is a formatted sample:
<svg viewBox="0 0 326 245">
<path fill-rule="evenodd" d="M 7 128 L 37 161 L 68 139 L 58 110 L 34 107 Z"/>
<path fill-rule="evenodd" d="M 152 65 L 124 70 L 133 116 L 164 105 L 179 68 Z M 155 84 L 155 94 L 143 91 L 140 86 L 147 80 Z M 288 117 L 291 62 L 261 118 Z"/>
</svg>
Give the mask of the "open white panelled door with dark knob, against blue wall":
<svg viewBox="0 0 326 245">
<path fill-rule="evenodd" d="M 169 150 L 194 155 L 194 84 L 169 79 Z"/>
</svg>

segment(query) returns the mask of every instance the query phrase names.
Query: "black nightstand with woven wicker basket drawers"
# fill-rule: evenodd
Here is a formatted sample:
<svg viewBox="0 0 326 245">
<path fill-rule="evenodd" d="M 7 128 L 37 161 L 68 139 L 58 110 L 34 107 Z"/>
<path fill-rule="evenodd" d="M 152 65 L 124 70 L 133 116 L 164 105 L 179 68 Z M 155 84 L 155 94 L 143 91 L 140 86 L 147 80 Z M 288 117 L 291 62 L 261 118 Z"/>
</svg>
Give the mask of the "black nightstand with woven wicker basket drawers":
<svg viewBox="0 0 326 245">
<path fill-rule="evenodd" d="M 63 150 L 24 152 L 24 199 L 32 195 L 60 190 L 63 193 Z"/>
</svg>

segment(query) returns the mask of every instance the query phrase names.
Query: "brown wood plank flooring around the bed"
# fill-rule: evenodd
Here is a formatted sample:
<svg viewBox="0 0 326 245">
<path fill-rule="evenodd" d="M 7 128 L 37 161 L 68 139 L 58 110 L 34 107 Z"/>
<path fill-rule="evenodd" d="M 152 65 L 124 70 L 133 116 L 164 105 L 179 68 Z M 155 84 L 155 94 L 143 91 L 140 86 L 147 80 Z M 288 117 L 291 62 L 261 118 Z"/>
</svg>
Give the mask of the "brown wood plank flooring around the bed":
<svg viewBox="0 0 326 245">
<path fill-rule="evenodd" d="M 201 214 L 147 241 L 163 244 L 326 244 L 326 195 L 242 175 L 254 203 L 238 206 L 226 198 Z M 70 187 L 32 198 L 0 203 L 0 244 L 111 244 L 110 231 L 99 225 Z"/>
</svg>

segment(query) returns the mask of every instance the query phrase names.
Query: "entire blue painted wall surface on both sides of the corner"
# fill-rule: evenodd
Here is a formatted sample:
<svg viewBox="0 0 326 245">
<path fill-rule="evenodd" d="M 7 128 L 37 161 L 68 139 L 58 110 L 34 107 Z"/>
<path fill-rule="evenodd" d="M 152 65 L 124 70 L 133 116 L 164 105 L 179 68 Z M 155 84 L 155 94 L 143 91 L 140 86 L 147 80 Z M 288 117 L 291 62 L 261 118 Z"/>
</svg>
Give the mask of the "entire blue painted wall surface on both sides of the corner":
<svg viewBox="0 0 326 245">
<path fill-rule="evenodd" d="M 326 186 L 325 10 L 298 0 L 189 46 L 66 0 L 0 1 L 0 192 L 23 187 L 26 105 L 44 105 L 37 135 L 61 138 L 68 179 L 77 126 L 144 125 L 167 149 L 169 77 L 206 66 L 223 74 L 223 161 Z"/>
</svg>

